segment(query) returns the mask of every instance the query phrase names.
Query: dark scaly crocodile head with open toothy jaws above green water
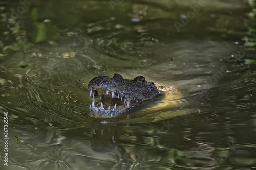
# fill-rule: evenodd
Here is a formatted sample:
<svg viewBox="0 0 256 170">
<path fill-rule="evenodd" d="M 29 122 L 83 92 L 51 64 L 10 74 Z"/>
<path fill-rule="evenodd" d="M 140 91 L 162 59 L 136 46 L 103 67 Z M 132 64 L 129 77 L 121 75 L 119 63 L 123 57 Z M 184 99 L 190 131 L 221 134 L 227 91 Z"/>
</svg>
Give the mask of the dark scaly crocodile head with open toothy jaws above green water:
<svg viewBox="0 0 256 170">
<path fill-rule="evenodd" d="M 93 98 L 89 115 L 97 118 L 122 115 L 160 93 L 154 83 L 147 82 L 143 76 L 129 80 L 119 74 L 113 78 L 95 77 L 89 82 L 88 88 Z M 95 103 L 96 98 L 100 98 L 100 101 Z"/>
</svg>

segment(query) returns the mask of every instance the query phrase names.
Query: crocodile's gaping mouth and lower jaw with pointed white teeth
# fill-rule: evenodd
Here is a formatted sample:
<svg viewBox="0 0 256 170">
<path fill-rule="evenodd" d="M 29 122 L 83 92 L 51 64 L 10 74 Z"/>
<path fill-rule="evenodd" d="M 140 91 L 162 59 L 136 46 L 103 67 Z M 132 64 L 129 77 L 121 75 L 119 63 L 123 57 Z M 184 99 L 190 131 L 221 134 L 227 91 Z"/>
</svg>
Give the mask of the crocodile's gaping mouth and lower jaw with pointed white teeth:
<svg viewBox="0 0 256 170">
<path fill-rule="evenodd" d="M 92 96 L 92 105 L 90 105 L 89 115 L 96 118 L 111 118 L 122 115 L 136 105 L 140 104 L 140 100 L 126 100 L 121 94 L 110 91 L 105 88 L 90 89 Z M 96 98 L 100 101 L 96 102 Z"/>
</svg>

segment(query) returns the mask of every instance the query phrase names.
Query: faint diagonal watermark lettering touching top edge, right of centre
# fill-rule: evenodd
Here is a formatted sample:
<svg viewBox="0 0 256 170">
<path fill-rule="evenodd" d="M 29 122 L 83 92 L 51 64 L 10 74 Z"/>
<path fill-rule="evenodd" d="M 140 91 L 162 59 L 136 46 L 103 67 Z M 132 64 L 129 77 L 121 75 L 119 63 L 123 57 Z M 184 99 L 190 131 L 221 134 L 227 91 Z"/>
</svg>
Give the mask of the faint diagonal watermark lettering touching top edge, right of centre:
<svg viewBox="0 0 256 170">
<path fill-rule="evenodd" d="M 198 5 L 190 5 L 189 7 L 191 8 L 191 11 L 188 11 L 187 12 L 187 15 L 184 15 L 183 13 L 181 14 L 181 23 L 180 22 L 177 22 L 175 21 L 174 22 L 174 26 L 176 28 L 176 30 L 178 31 L 178 33 L 180 32 L 180 28 L 184 28 L 185 25 L 187 25 L 190 21 L 190 19 L 193 19 L 196 14 L 198 14 L 201 10 L 202 7 L 205 7 L 206 6 L 206 3 L 204 0 L 199 0 L 198 1 Z"/>
</svg>

